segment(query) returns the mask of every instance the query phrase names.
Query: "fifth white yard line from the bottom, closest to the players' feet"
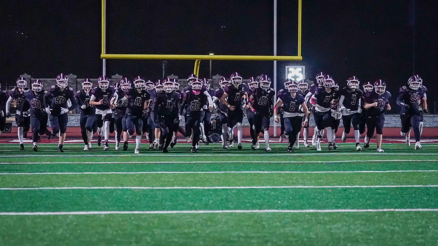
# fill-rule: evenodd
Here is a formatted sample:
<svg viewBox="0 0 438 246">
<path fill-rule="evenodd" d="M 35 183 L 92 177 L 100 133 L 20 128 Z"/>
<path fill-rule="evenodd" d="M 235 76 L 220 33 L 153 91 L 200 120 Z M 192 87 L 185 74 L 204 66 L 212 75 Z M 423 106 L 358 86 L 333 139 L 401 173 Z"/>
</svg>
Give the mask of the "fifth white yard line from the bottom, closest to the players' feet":
<svg viewBox="0 0 438 246">
<path fill-rule="evenodd" d="M 11 150 L 8 150 L 11 151 Z M 56 150 L 57 151 L 57 150 Z M 103 151 L 103 150 L 102 150 Z M 321 156 L 326 156 L 326 155 L 381 155 L 381 156 L 385 156 L 385 155 L 398 155 L 398 156 L 411 156 L 411 155 L 429 155 L 429 156 L 438 156 L 438 152 L 437 153 L 421 153 L 418 154 L 418 152 L 416 153 L 378 153 L 378 152 L 374 152 L 374 153 L 358 153 L 358 152 L 351 152 L 351 153 L 336 153 L 336 152 L 322 152 L 322 153 L 293 153 L 293 154 L 262 154 L 262 153 L 257 153 L 254 152 L 253 154 L 131 154 L 131 155 L 18 155 L 18 156 L 2 156 L 2 157 L 114 157 L 114 156 L 162 156 L 162 157 L 178 157 L 178 156 L 191 156 L 191 157 L 197 157 L 197 156 L 313 156 L 313 155 L 321 155 Z"/>
</svg>

